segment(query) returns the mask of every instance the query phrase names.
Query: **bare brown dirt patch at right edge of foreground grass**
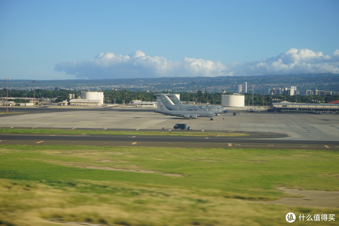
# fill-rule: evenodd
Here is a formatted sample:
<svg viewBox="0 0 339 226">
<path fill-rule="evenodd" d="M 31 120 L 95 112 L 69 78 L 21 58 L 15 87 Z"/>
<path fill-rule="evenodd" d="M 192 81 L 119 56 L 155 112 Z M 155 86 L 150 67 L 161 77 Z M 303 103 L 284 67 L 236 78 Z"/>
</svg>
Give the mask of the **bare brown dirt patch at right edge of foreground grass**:
<svg viewBox="0 0 339 226">
<path fill-rule="evenodd" d="M 255 201 L 267 204 L 281 204 L 301 207 L 339 207 L 339 191 L 299 190 L 281 187 L 279 191 L 303 196 L 300 198 L 282 198 L 274 201 Z"/>
</svg>

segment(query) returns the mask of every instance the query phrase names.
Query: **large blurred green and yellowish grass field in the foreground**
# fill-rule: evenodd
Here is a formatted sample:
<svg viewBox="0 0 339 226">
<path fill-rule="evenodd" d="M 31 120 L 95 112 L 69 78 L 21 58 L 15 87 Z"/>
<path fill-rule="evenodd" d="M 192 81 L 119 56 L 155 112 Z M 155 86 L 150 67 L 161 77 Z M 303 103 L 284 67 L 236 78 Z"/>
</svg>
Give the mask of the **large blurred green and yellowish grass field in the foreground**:
<svg viewBox="0 0 339 226">
<path fill-rule="evenodd" d="M 0 225 L 288 224 L 276 188 L 338 191 L 336 151 L 0 145 Z M 338 225 L 336 221 L 293 225 Z"/>
</svg>

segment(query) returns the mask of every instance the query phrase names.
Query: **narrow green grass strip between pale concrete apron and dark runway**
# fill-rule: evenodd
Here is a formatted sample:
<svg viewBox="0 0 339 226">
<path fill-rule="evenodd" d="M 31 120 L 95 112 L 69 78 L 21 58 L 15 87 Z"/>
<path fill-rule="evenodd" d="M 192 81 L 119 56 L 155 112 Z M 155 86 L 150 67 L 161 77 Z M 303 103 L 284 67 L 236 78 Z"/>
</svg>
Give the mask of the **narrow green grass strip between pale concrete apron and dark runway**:
<svg viewBox="0 0 339 226">
<path fill-rule="evenodd" d="M 246 137 L 246 133 L 215 133 L 215 132 L 188 132 L 188 131 L 118 131 L 118 130 L 73 130 L 73 129 L 0 129 L 0 133 L 53 133 L 53 134 L 96 134 L 96 135 L 138 135 L 138 136 L 216 136 L 219 137 Z"/>
</svg>

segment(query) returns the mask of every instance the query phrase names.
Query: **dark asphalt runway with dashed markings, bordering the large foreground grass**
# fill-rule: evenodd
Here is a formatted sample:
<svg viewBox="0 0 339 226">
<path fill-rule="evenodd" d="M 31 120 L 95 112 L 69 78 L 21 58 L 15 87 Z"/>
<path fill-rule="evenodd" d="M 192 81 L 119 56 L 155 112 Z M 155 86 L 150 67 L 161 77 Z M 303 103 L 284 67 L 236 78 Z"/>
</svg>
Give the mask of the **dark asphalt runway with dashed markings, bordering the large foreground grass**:
<svg viewBox="0 0 339 226">
<path fill-rule="evenodd" d="M 0 134 L 0 144 L 339 150 L 339 142 L 337 141 L 278 141 L 234 139 L 229 137 L 117 136 L 88 134 L 57 135 L 2 133 Z"/>
</svg>

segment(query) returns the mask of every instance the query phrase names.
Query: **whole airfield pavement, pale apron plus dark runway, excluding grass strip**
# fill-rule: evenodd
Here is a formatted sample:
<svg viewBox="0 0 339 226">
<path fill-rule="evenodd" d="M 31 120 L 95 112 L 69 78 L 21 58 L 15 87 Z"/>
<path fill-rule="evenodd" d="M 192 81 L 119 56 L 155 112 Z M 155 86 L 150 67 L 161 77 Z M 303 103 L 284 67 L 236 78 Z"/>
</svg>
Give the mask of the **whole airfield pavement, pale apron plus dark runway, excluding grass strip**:
<svg viewBox="0 0 339 226">
<path fill-rule="evenodd" d="M 1 109 L 1 108 L 0 108 Z M 5 110 L 5 108 L 2 108 Z M 176 123 L 186 123 L 195 132 L 240 132 L 249 137 L 114 137 L 106 135 L 1 135 L 0 144 L 74 144 L 169 147 L 258 147 L 328 149 L 339 148 L 337 115 L 311 115 L 255 112 L 222 114 L 214 117 L 185 120 L 164 116 L 154 109 L 72 109 L 11 107 L 11 114 L 0 115 L 0 128 L 65 128 L 92 130 L 172 131 Z M 164 128 L 164 129 L 162 129 Z M 180 130 L 182 131 L 182 130 Z M 73 139 L 73 140 L 72 140 Z M 38 143 L 39 142 L 39 143 Z"/>
</svg>

